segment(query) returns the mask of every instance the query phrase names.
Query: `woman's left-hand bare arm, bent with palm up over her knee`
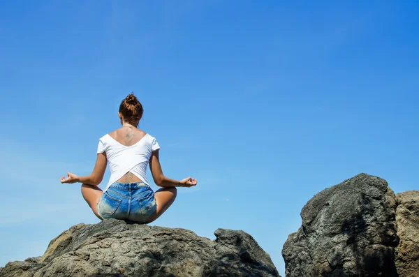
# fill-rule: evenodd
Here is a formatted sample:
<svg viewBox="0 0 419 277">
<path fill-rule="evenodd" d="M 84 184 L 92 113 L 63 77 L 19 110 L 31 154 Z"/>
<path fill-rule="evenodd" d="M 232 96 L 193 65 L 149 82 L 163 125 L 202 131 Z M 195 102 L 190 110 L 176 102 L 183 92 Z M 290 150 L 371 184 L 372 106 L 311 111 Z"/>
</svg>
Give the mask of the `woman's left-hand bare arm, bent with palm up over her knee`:
<svg viewBox="0 0 419 277">
<path fill-rule="evenodd" d="M 98 154 L 98 158 L 96 158 L 96 164 L 94 165 L 93 172 L 87 176 L 77 176 L 71 172 L 67 172 L 67 177 L 61 177 L 61 183 L 66 184 L 73 184 L 73 183 L 83 183 L 93 186 L 98 186 L 101 184 L 103 179 L 103 175 L 105 174 L 106 170 L 106 154 L 105 152 Z"/>
</svg>

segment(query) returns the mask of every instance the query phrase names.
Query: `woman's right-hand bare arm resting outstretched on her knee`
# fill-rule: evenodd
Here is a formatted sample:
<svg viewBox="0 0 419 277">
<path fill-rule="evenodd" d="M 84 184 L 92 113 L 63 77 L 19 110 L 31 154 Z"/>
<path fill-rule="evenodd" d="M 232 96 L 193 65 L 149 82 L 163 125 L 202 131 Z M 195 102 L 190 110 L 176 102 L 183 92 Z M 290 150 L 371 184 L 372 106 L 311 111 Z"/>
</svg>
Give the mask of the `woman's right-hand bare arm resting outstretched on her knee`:
<svg viewBox="0 0 419 277">
<path fill-rule="evenodd" d="M 157 186 L 161 186 L 163 188 L 170 188 L 173 186 L 190 187 L 196 186 L 197 183 L 196 179 L 191 177 L 185 178 L 181 181 L 176 181 L 164 176 L 159 161 L 159 150 L 152 152 L 152 157 L 150 158 L 150 171 L 152 172 L 154 183 L 156 183 Z"/>
</svg>

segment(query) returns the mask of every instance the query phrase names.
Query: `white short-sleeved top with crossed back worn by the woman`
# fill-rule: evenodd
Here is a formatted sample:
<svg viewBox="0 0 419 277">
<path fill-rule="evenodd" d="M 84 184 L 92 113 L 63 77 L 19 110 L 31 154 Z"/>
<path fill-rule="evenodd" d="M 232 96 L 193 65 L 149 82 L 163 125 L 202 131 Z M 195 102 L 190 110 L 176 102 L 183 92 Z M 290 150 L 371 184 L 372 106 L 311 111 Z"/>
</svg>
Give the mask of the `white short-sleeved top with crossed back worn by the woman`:
<svg viewBox="0 0 419 277">
<path fill-rule="evenodd" d="M 156 139 L 149 134 L 146 134 L 137 143 L 126 146 L 117 142 L 113 137 L 106 134 L 99 139 L 98 154 L 105 152 L 108 158 L 110 168 L 110 180 L 106 190 L 122 178 L 126 173 L 131 172 L 136 177 L 140 178 L 145 184 L 149 185 L 145 171 L 152 151 L 160 149 Z"/>
</svg>

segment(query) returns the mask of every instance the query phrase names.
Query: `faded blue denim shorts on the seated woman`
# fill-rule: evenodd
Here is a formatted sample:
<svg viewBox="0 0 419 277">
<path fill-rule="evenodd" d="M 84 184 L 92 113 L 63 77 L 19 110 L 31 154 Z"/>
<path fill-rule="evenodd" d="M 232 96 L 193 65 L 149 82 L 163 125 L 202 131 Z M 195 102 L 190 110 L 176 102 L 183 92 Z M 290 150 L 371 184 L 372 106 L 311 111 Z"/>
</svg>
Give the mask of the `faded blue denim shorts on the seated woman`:
<svg viewBox="0 0 419 277">
<path fill-rule="evenodd" d="M 145 223 L 156 214 L 154 192 L 143 182 L 110 185 L 98 202 L 98 214 L 103 218 L 117 218 Z"/>
</svg>

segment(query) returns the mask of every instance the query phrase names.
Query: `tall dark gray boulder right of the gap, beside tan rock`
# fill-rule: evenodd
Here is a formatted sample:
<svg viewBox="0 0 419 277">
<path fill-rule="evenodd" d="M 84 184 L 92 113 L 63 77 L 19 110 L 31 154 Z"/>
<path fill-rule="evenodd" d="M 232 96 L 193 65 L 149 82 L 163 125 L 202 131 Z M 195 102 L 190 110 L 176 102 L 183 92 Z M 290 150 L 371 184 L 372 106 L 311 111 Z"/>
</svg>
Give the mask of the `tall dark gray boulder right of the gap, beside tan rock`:
<svg viewBox="0 0 419 277">
<path fill-rule="evenodd" d="M 314 195 L 282 255 L 287 277 L 397 276 L 395 194 L 359 174 Z"/>
</svg>

